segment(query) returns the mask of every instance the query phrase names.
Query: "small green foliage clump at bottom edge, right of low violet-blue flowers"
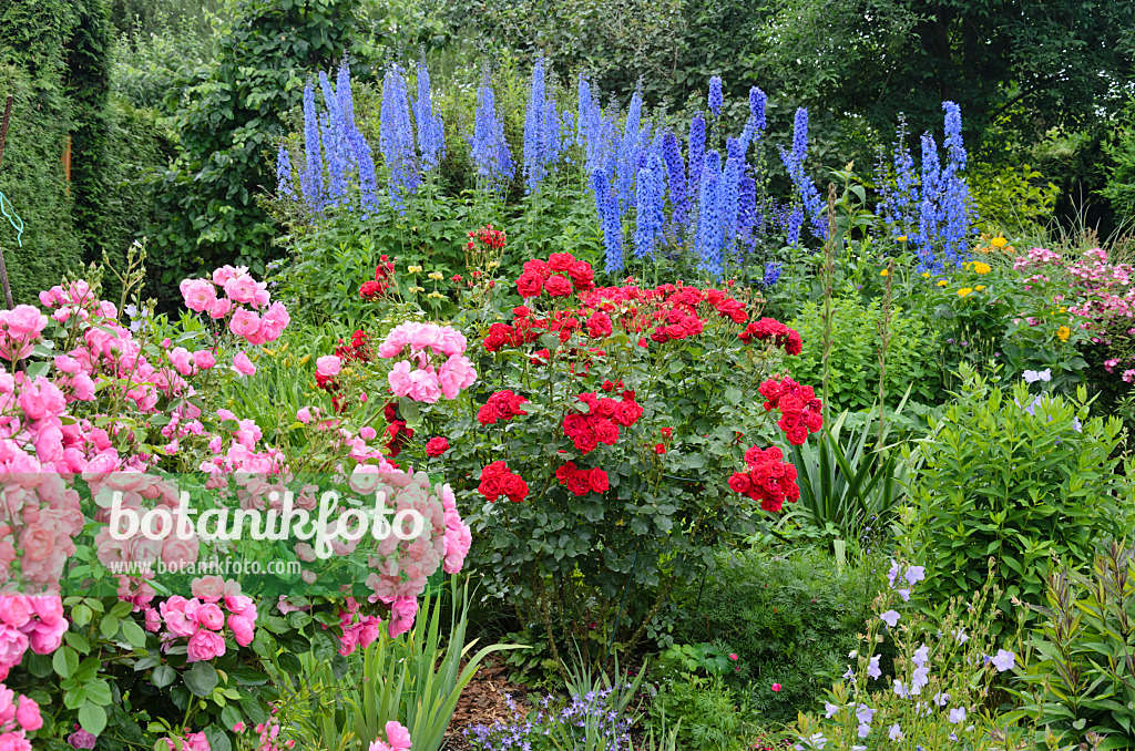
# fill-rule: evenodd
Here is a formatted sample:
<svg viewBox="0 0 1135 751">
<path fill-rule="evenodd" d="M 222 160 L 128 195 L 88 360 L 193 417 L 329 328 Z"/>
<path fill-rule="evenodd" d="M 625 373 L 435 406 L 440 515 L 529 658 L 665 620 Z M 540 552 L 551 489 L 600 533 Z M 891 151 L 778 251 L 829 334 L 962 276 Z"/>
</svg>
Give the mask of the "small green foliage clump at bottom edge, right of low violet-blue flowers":
<svg viewBox="0 0 1135 751">
<path fill-rule="evenodd" d="M 650 727 L 678 724 L 683 751 L 741 751 L 751 727 L 737 697 L 718 676 L 688 675 L 667 683 L 650 702 Z"/>
</svg>

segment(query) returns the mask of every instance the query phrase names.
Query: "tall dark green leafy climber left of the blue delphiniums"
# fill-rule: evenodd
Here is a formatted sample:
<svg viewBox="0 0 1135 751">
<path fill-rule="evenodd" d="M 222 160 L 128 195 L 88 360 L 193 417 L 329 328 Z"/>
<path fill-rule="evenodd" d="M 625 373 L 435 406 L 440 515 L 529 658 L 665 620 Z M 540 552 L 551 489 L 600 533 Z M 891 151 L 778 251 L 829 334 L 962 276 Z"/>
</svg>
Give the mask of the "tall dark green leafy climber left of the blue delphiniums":
<svg viewBox="0 0 1135 751">
<path fill-rule="evenodd" d="M 175 88 L 177 160 L 160 176 L 168 221 L 154 228 L 162 284 L 238 262 L 263 273 L 272 227 L 257 203 L 275 185 L 271 152 L 311 71 L 329 69 L 353 33 L 350 0 L 242 0 L 217 62 Z"/>
</svg>

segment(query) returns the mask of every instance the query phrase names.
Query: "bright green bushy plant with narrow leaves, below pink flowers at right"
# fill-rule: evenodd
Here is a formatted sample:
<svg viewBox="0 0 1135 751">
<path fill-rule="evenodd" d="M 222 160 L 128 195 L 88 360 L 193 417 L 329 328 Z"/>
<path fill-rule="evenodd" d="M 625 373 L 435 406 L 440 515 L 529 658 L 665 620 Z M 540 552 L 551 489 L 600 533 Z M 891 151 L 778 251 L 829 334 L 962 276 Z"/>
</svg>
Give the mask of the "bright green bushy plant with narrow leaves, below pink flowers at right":
<svg viewBox="0 0 1135 751">
<path fill-rule="evenodd" d="M 926 566 L 925 594 L 944 602 L 975 591 L 993 557 L 999 607 L 1014 597 L 1037 604 L 1050 556 L 1078 566 L 1100 539 L 1130 529 L 1112 458 L 1120 421 L 1088 417 L 1083 387 L 1050 398 L 1024 381 L 1003 388 L 968 368 L 961 374 L 957 402 L 917 448 L 903 449 L 923 462 L 909 489 L 918 514 L 908 539 Z"/>
</svg>

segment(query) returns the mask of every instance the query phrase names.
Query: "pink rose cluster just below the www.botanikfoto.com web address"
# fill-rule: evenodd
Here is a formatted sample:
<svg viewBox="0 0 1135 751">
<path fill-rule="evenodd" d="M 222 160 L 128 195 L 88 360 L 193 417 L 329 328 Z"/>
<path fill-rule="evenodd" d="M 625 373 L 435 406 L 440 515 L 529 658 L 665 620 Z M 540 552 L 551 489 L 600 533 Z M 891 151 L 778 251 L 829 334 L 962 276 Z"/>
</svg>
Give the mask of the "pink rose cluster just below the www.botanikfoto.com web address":
<svg viewBox="0 0 1135 751">
<path fill-rule="evenodd" d="M 188 638 L 186 661 L 211 660 L 224 655 L 225 626 L 241 647 L 252 643 L 255 633 L 257 605 L 251 597 L 239 593 L 236 582 L 219 576 L 193 580 L 193 599 L 175 594 L 158 608 L 146 608 L 145 625 L 149 631 L 162 632 L 168 649 L 174 639 Z M 226 615 L 227 614 L 227 615 Z"/>
</svg>

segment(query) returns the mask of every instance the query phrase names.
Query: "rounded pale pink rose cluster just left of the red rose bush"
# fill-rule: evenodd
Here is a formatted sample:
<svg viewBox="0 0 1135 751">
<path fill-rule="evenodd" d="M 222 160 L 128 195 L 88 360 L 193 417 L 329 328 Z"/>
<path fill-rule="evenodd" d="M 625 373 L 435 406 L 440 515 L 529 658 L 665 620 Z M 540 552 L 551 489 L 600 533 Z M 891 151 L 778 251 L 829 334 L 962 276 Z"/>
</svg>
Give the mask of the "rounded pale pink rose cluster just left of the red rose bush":
<svg viewBox="0 0 1135 751">
<path fill-rule="evenodd" d="M 394 358 L 409 351 L 406 360 L 395 363 L 388 377 L 395 396 L 414 402 L 436 403 L 442 396 L 455 399 L 477 380 L 465 352 L 465 337 L 448 326 L 401 323 L 378 347 L 378 356 Z M 435 368 L 432 357 L 445 361 Z"/>
</svg>

